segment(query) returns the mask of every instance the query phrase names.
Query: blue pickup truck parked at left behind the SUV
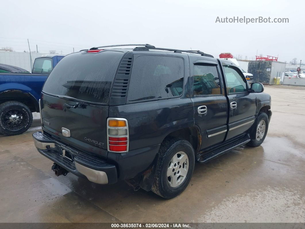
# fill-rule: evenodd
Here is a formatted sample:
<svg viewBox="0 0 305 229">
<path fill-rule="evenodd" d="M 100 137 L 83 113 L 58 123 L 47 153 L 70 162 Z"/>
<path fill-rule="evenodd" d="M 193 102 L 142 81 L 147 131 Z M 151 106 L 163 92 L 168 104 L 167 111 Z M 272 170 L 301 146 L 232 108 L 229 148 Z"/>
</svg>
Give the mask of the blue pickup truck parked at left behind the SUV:
<svg viewBox="0 0 305 229">
<path fill-rule="evenodd" d="M 27 131 L 39 112 L 40 92 L 48 75 L 64 56 L 37 57 L 29 72 L 0 72 L 0 134 L 17 135 Z"/>
</svg>

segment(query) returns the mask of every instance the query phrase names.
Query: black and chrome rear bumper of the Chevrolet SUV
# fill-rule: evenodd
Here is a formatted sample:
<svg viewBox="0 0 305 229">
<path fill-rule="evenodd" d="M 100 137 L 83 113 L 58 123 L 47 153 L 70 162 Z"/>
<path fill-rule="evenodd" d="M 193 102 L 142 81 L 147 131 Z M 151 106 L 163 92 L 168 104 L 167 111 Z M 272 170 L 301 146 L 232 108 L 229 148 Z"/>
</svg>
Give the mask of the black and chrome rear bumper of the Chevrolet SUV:
<svg viewBox="0 0 305 229">
<path fill-rule="evenodd" d="M 112 184 L 117 182 L 117 168 L 98 157 L 57 141 L 56 139 L 36 132 L 33 134 L 34 144 L 39 153 L 51 161 L 65 168 L 67 171 L 98 184 Z M 63 150 L 72 155 L 73 160 L 63 156 Z"/>
</svg>

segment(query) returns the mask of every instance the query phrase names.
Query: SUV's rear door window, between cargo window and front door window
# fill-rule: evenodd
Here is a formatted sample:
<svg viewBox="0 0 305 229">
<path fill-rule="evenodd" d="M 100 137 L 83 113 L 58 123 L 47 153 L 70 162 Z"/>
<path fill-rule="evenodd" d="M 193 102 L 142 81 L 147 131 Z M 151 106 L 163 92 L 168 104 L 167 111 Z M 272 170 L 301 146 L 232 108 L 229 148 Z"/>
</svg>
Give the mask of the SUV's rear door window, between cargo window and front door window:
<svg viewBox="0 0 305 229">
<path fill-rule="evenodd" d="M 215 65 L 194 65 L 194 95 L 221 94 L 219 75 Z"/>
</svg>

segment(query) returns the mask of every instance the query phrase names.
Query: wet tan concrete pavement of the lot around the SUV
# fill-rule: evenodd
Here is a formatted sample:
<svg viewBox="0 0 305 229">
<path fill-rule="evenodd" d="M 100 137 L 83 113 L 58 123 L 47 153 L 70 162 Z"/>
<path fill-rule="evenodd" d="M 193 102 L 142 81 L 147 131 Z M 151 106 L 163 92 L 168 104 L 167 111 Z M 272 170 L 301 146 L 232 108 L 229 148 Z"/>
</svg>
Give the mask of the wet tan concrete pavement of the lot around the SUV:
<svg viewBox="0 0 305 229">
<path fill-rule="evenodd" d="M 126 183 L 56 177 L 31 134 L 0 137 L 0 222 L 305 222 L 305 88 L 266 86 L 273 116 L 257 148 L 196 164 L 165 200 Z"/>
</svg>

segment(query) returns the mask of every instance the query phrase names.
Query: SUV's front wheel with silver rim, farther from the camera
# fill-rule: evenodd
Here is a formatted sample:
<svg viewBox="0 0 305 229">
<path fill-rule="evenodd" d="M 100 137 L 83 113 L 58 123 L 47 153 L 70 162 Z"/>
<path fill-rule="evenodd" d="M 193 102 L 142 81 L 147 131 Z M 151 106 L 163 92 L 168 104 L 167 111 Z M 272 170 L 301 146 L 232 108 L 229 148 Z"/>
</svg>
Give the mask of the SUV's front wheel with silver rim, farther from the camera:
<svg viewBox="0 0 305 229">
<path fill-rule="evenodd" d="M 268 115 L 266 113 L 260 112 L 251 128 L 250 131 L 251 141 L 247 143 L 247 146 L 250 147 L 260 146 L 266 138 L 268 132 L 268 126 L 269 126 Z"/>
</svg>

